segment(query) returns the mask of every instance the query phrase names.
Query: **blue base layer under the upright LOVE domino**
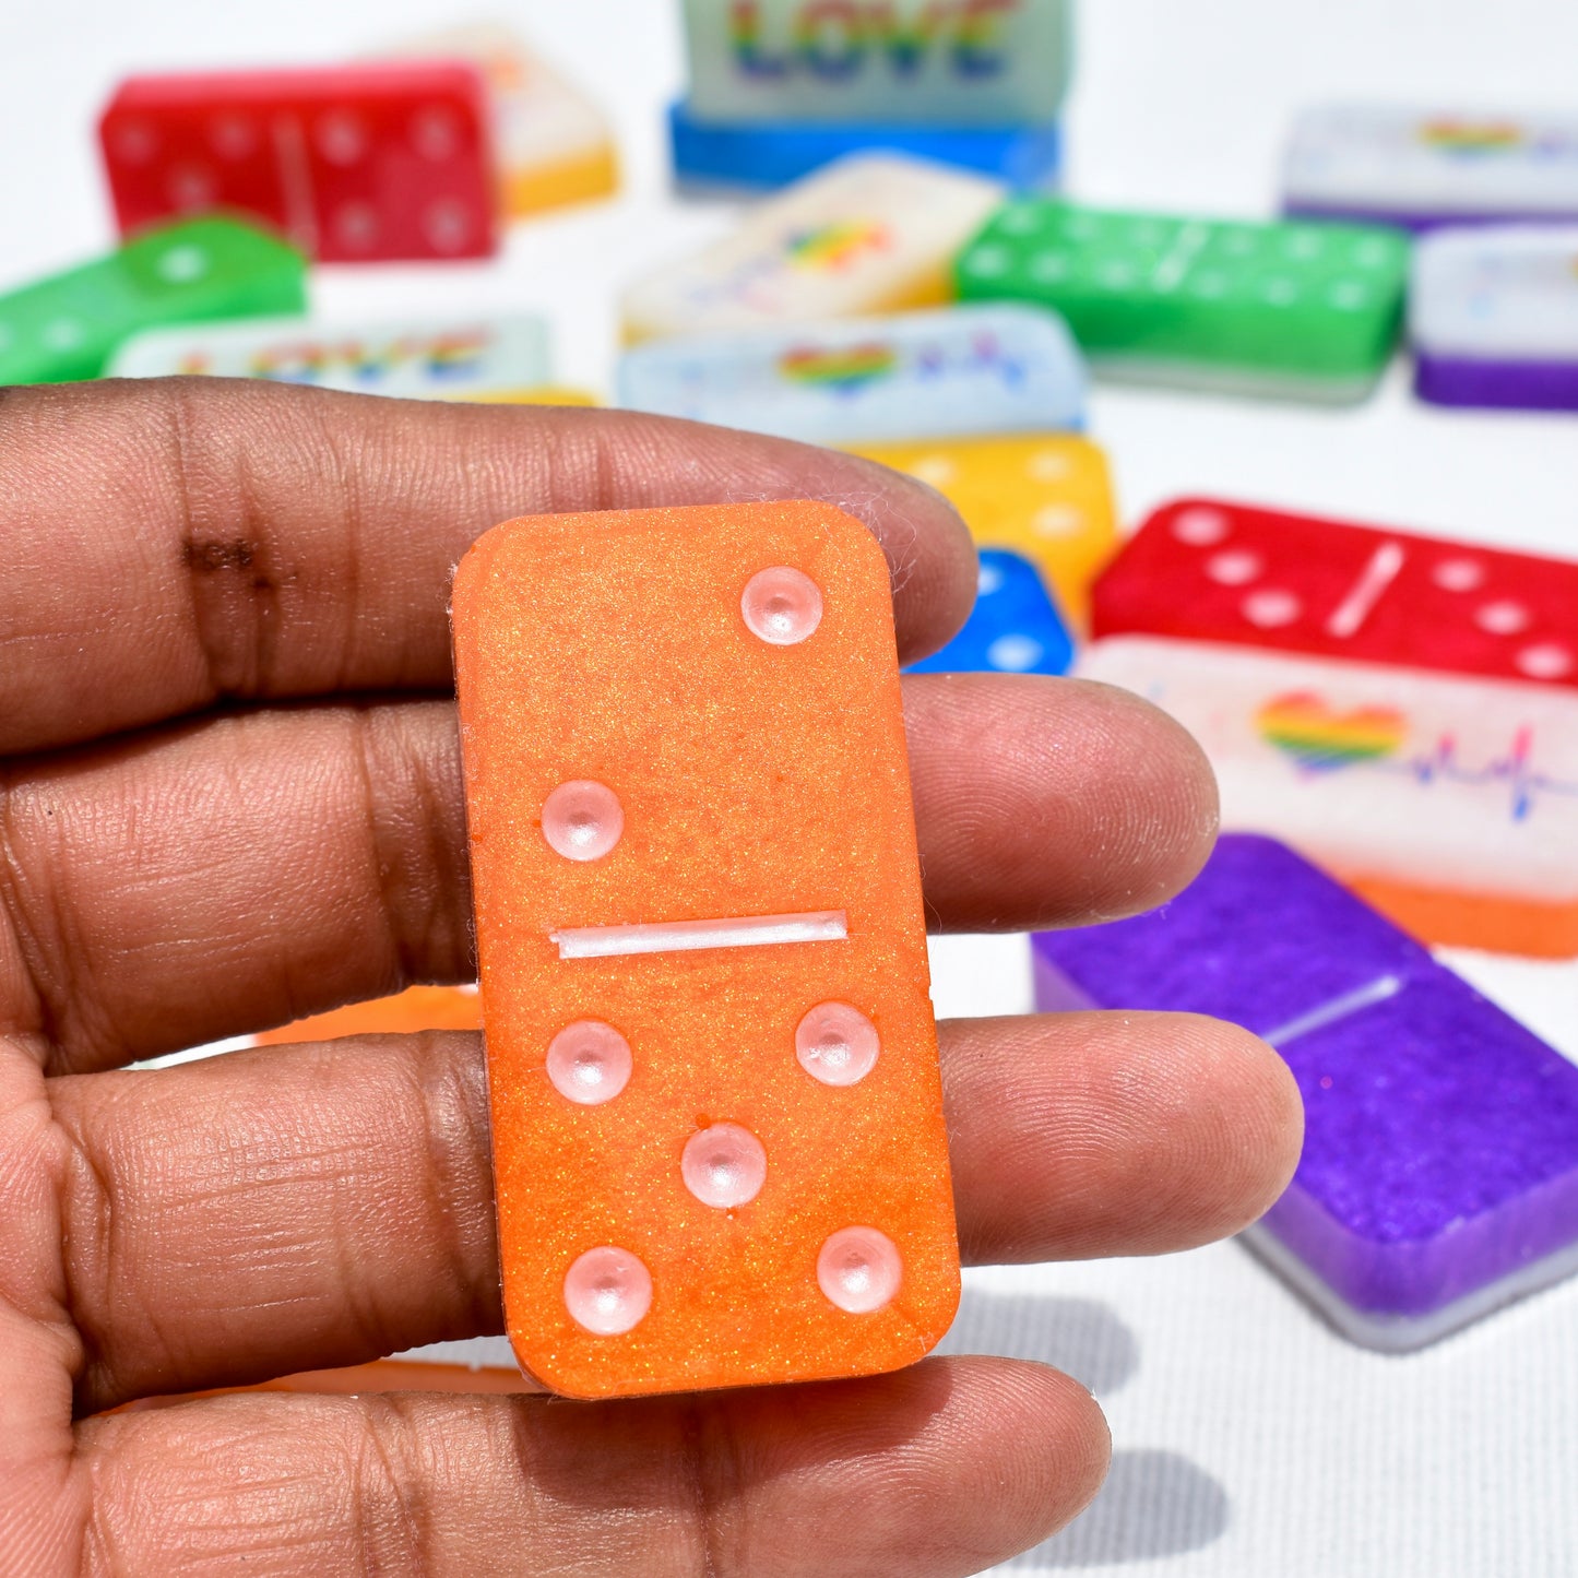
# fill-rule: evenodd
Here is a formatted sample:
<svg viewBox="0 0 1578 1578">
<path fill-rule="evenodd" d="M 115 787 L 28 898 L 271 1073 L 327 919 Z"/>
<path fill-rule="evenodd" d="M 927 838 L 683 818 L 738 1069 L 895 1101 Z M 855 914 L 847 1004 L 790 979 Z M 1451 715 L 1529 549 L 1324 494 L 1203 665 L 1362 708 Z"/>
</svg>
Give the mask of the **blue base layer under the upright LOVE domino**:
<svg viewBox="0 0 1578 1578">
<path fill-rule="evenodd" d="M 696 186 L 787 186 L 846 153 L 881 148 L 991 175 L 1030 191 L 1062 166 L 1056 122 L 1026 126 L 882 126 L 816 122 L 709 122 L 680 99 L 669 107 L 674 174 Z"/>
</svg>

